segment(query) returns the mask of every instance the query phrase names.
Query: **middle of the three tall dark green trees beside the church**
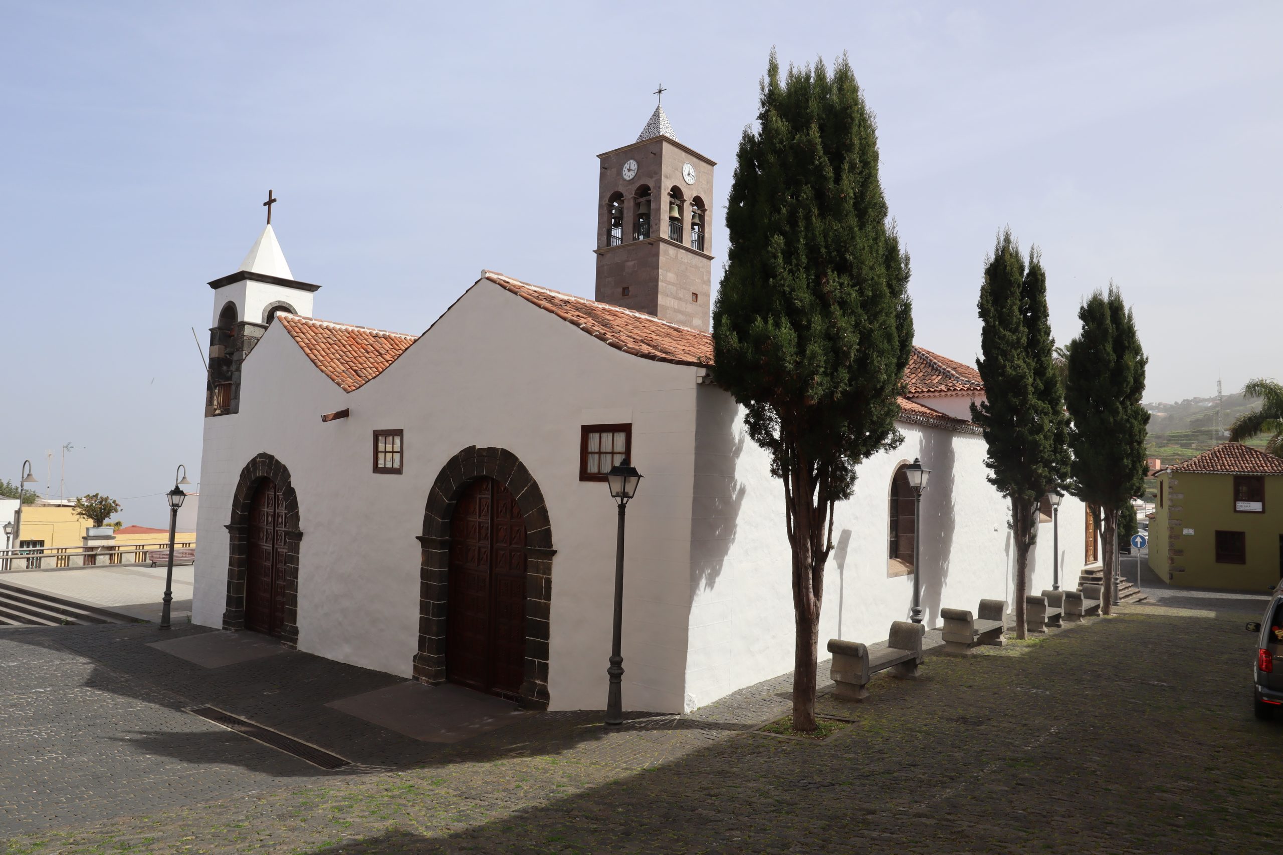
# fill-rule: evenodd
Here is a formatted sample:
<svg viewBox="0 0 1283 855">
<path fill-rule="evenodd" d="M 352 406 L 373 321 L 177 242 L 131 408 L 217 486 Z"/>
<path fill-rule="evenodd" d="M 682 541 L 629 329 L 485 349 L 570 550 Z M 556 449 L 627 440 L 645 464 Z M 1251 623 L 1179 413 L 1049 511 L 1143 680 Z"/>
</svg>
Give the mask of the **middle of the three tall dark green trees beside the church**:
<svg viewBox="0 0 1283 855">
<path fill-rule="evenodd" d="M 1037 249 L 1025 265 L 1005 229 L 985 259 L 980 286 L 980 379 L 985 400 L 971 405 L 989 446 L 989 483 L 1011 502 L 1016 551 L 1016 637 L 1024 638 L 1029 547 L 1038 536 L 1038 502 L 1069 478 L 1065 400 L 1056 342 L 1047 319 L 1047 274 Z"/>
</svg>

